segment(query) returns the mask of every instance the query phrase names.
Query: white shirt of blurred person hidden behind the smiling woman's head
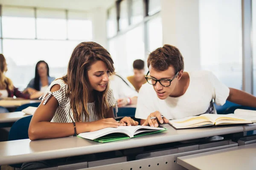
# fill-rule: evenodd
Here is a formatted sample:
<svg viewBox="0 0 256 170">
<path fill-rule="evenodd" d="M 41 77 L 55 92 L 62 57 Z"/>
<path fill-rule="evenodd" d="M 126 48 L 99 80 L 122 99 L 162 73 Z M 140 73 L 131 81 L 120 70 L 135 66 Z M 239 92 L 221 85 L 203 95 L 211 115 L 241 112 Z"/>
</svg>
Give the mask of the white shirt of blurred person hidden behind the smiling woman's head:
<svg viewBox="0 0 256 170">
<path fill-rule="evenodd" d="M 125 80 L 125 79 L 124 79 Z M 110 77 L 110 88 L 113 90 L 114 98 L 122 99 L 138 96 L 138 92 L 134 89 L 130 82 L 126 81 L 129 86 L 118 76 Z"/>
</svg>

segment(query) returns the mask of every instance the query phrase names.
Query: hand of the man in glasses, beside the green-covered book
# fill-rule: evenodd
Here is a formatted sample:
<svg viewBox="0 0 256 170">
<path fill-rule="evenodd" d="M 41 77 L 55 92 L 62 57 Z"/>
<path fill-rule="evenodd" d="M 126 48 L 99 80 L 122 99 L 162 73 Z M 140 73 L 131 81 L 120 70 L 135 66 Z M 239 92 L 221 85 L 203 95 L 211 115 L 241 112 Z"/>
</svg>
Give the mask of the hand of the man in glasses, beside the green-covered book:
<svg viewBox="0 0 256 170">
<path fill-rule="evenodd" d="M 157 117 L 157 119 L 150 119 L 151 117 Z M 160 122 L 160 124 L 163 124 L 168 123 L 169 120 L 165 117 L 162 118 L 161 113 L 159 111 L 155 111 L 154 113 L 150 113 L 150 115 L 148 116 L 148 118 L 146 119 L 142 126 L 158 127 L 158 122 Z"/>
</svg>

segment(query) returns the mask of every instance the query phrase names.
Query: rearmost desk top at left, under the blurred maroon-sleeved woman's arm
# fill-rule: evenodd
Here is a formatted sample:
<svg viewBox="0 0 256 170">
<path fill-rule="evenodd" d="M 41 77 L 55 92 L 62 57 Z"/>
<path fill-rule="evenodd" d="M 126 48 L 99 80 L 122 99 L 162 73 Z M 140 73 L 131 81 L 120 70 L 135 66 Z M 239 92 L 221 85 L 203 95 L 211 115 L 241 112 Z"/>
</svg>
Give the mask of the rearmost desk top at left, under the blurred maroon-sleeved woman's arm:
<svg viewBox="0 0 256 170">
<path fill-rule="evenodd" d="M 4 108 L 15 108 L 28 103 L 41 102 L 41 100 L 29 100 L 29 99 L 2 99 L 0 100 L 0 106 Z"/>
</svg>

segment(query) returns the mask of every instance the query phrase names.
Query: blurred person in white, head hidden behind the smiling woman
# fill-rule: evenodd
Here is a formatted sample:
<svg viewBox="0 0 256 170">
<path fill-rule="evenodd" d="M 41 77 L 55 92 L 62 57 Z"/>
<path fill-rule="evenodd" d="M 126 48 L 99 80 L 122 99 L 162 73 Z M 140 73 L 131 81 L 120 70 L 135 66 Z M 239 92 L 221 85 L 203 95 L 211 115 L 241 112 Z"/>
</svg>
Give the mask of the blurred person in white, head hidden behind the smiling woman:
<svg viewBox="0 0 256 170">
<path fill-rule="evenodd" d="M 115 74 L 109 79 L 118 107 L 137 104 L 138 93 L 129 82 Z"/>
</svg>

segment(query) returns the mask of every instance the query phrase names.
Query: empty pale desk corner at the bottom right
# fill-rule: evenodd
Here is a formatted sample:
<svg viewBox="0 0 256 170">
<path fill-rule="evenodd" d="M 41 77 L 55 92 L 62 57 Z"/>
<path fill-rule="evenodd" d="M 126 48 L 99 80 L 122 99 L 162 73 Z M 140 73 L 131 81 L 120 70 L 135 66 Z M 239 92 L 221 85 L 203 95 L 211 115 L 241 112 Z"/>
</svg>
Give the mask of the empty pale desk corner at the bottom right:
<svg viewBox="0 0 256 170">
<path fill-rule="evenodd" d="M 189 170 L 252 170 L 256 167 L 256 143 L 177 158 Z"/>
</svg>

